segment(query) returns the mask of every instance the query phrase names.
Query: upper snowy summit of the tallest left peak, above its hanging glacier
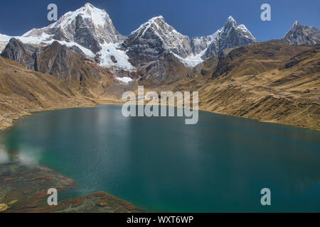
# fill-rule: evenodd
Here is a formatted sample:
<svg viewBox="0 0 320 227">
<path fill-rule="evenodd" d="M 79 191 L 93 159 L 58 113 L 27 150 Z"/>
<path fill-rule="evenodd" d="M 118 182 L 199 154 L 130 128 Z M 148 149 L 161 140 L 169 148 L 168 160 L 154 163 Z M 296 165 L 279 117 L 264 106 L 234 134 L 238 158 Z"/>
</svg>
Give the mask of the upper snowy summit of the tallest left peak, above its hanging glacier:
<svg viewBox="0 0 320 227">
<path fill-rule="evenodd" d="M 93 53 L 101 50 L 100 45 L 119 43 L 123 39 L 107 12 L 88 3 L 76 11 L 65 13 L 50 26 L 34 28 L 22 35 L 25 38 L 34 36 L 78 43 Z"/>
</svg>

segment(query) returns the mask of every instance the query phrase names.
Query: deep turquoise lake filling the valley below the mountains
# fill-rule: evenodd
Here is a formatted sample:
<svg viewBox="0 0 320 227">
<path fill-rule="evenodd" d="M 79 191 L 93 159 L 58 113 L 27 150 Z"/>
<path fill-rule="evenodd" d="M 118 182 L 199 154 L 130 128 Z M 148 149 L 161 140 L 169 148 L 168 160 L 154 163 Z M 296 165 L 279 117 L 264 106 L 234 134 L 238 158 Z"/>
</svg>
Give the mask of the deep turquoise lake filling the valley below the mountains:
<svg viewBox="0 0 320 227">
<path fill-rule="evenodd" d="M 75 179 L 59 200 L 105 191 L 146 211 L 320 212 L 319 132 L 203 111 L 184 120 L 125 118 L 121 106 L 46 111 L 1 132 L 0 157 Z"/>
</svg>

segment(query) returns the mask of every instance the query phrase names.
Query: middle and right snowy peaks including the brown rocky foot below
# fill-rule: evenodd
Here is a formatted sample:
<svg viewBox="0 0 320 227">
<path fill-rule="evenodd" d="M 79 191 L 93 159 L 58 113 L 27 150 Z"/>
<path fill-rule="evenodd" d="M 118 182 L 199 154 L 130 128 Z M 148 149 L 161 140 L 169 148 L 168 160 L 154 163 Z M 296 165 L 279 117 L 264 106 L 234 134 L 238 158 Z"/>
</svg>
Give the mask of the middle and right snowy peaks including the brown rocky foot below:
<svg viewBox="0 0 320 227">
<path fill-rule="evenodd" d="M 228 48 L 255 42 L 247 28 L 237 26 L 231 16 L 213 35 L 193 40 L 178 33 L 162 16 L 157 16 L 127 36 L 121 47 L 129 56 L 129 62 L 137 68 L 143 84 L 159 86 L 177 78 L 194 77 L 194 70 L 190 68 L 203 59 L 217 56 Z M 169 70 L 172 68 L 175 70 Z M 150 82 L 144 83 L 145 80 Z"/>
</svg>

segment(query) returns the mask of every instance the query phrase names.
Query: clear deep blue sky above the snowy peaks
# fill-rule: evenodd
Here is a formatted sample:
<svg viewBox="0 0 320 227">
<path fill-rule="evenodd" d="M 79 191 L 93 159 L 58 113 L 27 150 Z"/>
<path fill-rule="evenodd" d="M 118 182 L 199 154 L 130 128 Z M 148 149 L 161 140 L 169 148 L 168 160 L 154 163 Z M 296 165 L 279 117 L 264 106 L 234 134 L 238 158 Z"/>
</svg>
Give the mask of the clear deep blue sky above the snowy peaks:
<svg viewBox="0 0 320 227">
<path fill-rule="evenodd" d="M 58 16 L 80 8 L 89 0 L 2 0 L 0 8 L 0 33 L 22 35 L 31 28 L 50 24 L 47 6 L 58 5 Z M 320 27 L 319 0 L 91 0 L 105 9 L 119 33 L 128 35 L 142 23 L 162 15 L 167 23 L 191 38 L 210 35 L 221 28 L 231 15 L 244 23 L 257 40 L 265 41 L 282 36 L 294 21 L 303 25 Z M 260 20 L 260 6 L 271 5 L 272 21 Z"/>
</svg>

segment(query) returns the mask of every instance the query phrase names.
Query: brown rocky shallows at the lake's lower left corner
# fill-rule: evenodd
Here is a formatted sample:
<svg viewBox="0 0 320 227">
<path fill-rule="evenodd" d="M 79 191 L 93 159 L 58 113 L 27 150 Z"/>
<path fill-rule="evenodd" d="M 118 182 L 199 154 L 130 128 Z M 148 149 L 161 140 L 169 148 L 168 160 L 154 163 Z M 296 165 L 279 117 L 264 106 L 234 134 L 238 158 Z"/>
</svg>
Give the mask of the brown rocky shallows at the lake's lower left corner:
<svg viewBox="0 0 320 227">
<path fill-rule="evenodd" d="M 59 193 L 76 184 L 55 170 L 46 167 L 30 167 L 18 162 L 0 165 L 0 212 L 4 213 L 137 213 L 142 212 L 134 204 L 106 192 L 94 192 L 85 196 L 59 201 L 48 206 L 47 191 L 55 188 Z"/>
</svg>

